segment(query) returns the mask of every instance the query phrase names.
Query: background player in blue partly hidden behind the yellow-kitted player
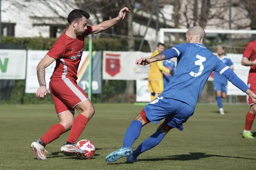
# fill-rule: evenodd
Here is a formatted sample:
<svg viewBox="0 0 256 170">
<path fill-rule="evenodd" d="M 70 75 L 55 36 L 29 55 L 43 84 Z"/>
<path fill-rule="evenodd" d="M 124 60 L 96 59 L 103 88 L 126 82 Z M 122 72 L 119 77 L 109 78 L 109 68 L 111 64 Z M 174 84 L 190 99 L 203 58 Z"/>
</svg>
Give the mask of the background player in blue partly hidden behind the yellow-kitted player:
<svg viewBox="0 0 256 170">
<path fill-rule="evenodd" d="M 165 88 L 167 86 L 167 84 L 172 80 L 172 77 L 174 75 L 175 62 L 172 61 L 172 59 L 167 59 L 167 60 L 163 61 L 163 65 L 164 65 L 164 67 L 166 67 L 170 70 L 170 74 L 162 72 L 163 73 L 164 88 Z"/>
</svg>

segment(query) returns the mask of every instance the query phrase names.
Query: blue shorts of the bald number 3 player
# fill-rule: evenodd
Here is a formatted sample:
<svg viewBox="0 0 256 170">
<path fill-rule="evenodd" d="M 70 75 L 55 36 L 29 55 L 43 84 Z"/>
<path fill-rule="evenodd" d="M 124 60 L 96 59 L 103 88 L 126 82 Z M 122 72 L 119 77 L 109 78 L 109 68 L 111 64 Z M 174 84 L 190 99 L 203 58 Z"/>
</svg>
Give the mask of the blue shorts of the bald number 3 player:
<svg viewBox="0 0 256 170">
<path fill-rule="evenodd" d="M 195 108 L 182 101 L 159 95 L 144 107 L 144 111 L 148 120 L 154 124 L 165 118 L 168 126 L 183 130 L 183 123 L 193 115 Z"/>
</svg>

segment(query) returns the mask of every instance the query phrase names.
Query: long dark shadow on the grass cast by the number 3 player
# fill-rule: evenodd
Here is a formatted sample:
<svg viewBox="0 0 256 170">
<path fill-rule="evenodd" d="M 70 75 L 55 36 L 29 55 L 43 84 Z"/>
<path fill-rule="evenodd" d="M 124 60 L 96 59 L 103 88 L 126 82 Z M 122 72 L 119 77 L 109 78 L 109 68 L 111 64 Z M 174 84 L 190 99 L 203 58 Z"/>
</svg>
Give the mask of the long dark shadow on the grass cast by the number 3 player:
<svg viewBox="0 0 256 170">
<path fill-rule="evenodd" d="M 167 157 L 160 157 L 160 158 L 144 158 L 139 159 L 139 161 L 189 161 L 189 160 L 199 160 L 201 158 L 210 158 L 210 157 L 218 157 L 218 158 L 238 158 L 238 159 L 249 159 L 249 160 L 256 160 L 254 158 L 244 158 L 239 156 L 223 156 L 223 155 L 212 155 L 212 154 L 205 154 L 202 152 L 191 152 L 189 154 L 181 154 L 181 155 L 172 155 Z M 109 163 L 108 165 L 119 165 L 119 164 L 129 164 L 127 162 L 123 163 Z"/>
</svg>

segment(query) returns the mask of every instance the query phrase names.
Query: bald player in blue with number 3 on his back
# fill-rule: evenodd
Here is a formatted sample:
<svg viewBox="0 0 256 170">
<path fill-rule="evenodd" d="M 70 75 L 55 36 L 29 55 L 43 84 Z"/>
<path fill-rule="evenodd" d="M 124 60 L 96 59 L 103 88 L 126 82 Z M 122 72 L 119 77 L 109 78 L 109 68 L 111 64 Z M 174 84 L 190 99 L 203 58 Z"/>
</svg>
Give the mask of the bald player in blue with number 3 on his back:
<svg viewBox="0 0 256 170">
<path fill-rule="evenodd" d="M 161 95 L 144 107 L 127 129 L 123 146 L 106 156 L 106 162 L 115 162 L 127 156 L 127 162 L 136 162 L 137 157 L 158 145 L 172 128 L 183 130 L 185 123 L 195 111 L 197 100 L 212 71 L 224 75 L 230 82 L 251 96 L 256 103 L 256 95 L 236 74 L 203 45 L 205 31 L 200 26 L 188 29 L 186 44 L 181 43 L 157 54 L 153 58 L 141 58 L 135 63 L 148 65 L 155 61 L 177 57 L 177 66 L 171 82 Z M 152 122 L 165 121 L 156 132 L 146 139 L 136 150 L 131 150 L 134 141 L 139 137 L 141 128 Z"/>
</svg>

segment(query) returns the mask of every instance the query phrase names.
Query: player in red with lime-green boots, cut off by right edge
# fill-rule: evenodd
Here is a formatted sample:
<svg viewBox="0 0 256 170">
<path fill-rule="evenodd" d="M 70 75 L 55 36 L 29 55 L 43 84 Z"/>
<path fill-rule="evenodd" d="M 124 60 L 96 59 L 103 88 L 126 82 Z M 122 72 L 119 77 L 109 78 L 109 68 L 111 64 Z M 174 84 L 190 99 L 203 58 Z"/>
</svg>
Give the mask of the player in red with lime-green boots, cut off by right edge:
<svg viewBox="0 0 256 170">
<path fill-rule="evenodd" d="M 248 76 L 248 86 L 254 93 L 256 93 L 256 40 L 249 42 L 247 45 L 243 53 L 241 64 L 251 67 Z M 246 115 L 243 137 L 247 139 L 254 139 L 251 133 L 251 126 L 256 114 L 256 105 L 252 102 L 251 97 L 248 95 L 247 103 L 251 106 L 251 108 Z"/>
</svg>

